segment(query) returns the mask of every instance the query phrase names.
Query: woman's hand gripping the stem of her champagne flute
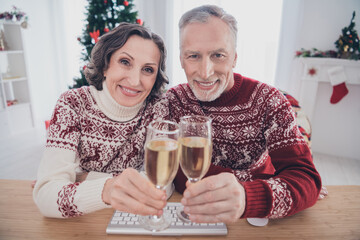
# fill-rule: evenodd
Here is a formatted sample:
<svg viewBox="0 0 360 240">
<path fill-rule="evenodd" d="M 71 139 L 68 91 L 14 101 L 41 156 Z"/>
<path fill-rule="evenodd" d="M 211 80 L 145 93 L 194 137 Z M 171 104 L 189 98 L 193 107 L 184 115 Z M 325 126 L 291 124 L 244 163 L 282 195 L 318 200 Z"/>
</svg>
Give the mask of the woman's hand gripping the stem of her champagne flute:
<svg viewBox="0 0 360 240">
<path fill-rule="evenodd" d="M 114 209 L 140 215 L 161 215 L 166 205 L 166 193 L 133 169 L 106 181 L 103 201 Z"/>
</svg>

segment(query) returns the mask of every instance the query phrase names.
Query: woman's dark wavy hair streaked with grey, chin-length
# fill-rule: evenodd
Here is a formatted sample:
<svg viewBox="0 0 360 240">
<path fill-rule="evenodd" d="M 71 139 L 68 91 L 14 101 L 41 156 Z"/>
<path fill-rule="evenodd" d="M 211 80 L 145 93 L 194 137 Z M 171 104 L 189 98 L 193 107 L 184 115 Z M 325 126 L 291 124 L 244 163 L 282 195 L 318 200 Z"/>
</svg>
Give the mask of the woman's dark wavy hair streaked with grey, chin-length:
<svg viewBox="0 0 360 240">
<path fill-rule="evenodd" d="M 105 80 L 104 71 L 109 67 L 111 55 L 124 46 L 126 41 L 133 35 L 152 40 L 159 48 L 159 70 L 148 98 L 159 96 L 165 84 L 169 83 L 165 74 L 166 48 L 160 36 L 138 24 L 120 23 L 119 26 L 101 36 L 91 51 L 91 59 L 85 69 L 85 78 L 90 85 L 101 91 L 102 82 Z"/>
</svg>

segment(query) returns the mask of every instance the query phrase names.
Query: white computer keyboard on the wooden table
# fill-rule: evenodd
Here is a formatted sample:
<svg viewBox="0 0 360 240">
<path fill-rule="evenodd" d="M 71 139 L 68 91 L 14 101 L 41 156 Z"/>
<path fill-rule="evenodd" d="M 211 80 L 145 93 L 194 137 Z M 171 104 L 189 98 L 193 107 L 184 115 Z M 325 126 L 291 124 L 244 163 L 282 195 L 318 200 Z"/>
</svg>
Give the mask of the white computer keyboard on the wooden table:
<svg viewBox="0 0 360 240">
<path fill-rule="evenodd" d="M 106 228 L 107 234 L 129 234 L 129 235 L 226 235 L 227 227 L 224 223 L 184 223 L 176 214 L 179 202 L 168 202 L 165 211 L 172 215 L 171 225 L 159 232 L 146 230 L 139 223 L 138 215 L 114 211 L 112 218 Z"/>
</svg>

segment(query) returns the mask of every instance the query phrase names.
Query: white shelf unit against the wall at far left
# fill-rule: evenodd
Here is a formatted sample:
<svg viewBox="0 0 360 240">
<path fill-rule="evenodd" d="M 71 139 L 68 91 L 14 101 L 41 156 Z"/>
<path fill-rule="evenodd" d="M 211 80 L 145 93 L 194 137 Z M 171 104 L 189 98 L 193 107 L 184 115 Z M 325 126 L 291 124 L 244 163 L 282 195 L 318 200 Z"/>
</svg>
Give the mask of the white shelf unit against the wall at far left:
<svg viewBox="0 0 360 240">
<path fill-rule="evenodd" d="M 6 50 L 0 51 L 0 132 L 18 133 L 34 127 L 27 64 L 19 22 L 0 20 Z M 7 106 L 8 101 L 17 103 Z"/>
</svg>

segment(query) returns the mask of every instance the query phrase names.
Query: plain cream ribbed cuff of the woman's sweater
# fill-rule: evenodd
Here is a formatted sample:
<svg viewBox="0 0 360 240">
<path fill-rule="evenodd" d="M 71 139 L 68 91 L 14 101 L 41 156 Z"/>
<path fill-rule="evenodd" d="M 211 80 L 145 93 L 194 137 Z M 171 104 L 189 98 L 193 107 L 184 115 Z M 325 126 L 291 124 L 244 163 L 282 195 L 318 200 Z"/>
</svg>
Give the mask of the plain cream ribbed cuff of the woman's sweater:
<svg viewBox="0 0 360 240">
<path fill-rule="evenodd" d="M 111 205 L 104 203 L 102 200 L 105 182 L 110 178 L 109 176 L 95 180 L 86 180 L 78 186 L 75 202 L 79 211 L 90 213 L 103 208 L 111 208 Z"/>
</svg>

